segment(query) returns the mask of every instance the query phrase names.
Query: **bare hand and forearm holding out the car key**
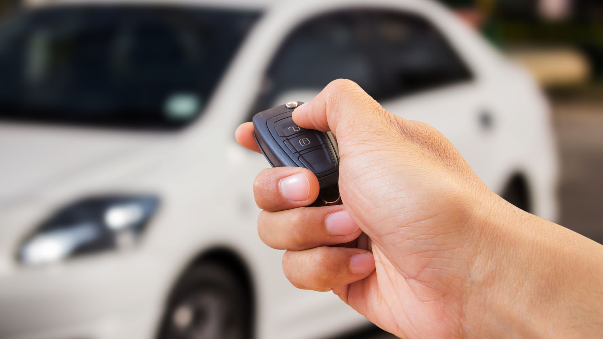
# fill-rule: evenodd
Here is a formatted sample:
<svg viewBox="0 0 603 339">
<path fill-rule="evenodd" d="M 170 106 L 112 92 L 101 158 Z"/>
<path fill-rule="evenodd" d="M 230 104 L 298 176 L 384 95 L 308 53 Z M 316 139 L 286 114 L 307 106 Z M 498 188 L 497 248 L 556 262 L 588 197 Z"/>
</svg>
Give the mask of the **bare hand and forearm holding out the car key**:
<svg viewBox="0 0 603 339">
<path fill-rule="evenodd" d="M 258 232 L 287 250 L 295 287 L 332 290 L 402 338 L 603 334 L 603 246 L 498 197 L 433 127 L 387 112 L 349 80 L 293 119 L 336 136 L 344 202 L 306 208 L 319 188 L 305 168 L 258 174 Z M 253 124 L 235 136 L 259 151 Z"/>
</svg>

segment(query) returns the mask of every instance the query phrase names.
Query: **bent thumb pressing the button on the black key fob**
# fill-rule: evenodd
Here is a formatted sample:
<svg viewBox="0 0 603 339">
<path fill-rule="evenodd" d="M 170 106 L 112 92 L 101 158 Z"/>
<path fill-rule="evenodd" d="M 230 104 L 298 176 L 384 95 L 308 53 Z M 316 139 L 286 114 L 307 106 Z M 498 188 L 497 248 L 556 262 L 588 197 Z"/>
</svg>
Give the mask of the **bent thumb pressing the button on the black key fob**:
<svg viewBox="0 0 603 339">
<path fill-rule="evenodd" d="M 371 135 L 390 126 L 394 116 L 352 80 L 331 81 L 318 95 L 293 112 L 295 124 L 342 136 L 362 130 Z M 374 136 L 374 135 L 373 135 Z"/>
</svg>

